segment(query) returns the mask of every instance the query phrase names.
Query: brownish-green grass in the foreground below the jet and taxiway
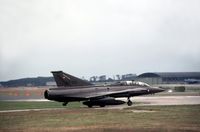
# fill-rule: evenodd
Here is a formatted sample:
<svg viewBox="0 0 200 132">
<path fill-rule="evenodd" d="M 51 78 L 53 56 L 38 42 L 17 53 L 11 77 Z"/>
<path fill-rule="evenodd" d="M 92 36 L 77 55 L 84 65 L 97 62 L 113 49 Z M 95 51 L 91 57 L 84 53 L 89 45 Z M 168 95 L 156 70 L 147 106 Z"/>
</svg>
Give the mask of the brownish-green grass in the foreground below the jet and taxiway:
<svg viewBox="0 0 200 132">
<path fill-rule="evenodd" d="M 6 103 L 0 102 L 1 110 L 62 107 L 55 102 L 9 102 L 10 106 Z M 137 106 L 123 110 L 79 105 L 0 113 L 0 131 L 200 131 L 200 105 Z"/>
</svg>

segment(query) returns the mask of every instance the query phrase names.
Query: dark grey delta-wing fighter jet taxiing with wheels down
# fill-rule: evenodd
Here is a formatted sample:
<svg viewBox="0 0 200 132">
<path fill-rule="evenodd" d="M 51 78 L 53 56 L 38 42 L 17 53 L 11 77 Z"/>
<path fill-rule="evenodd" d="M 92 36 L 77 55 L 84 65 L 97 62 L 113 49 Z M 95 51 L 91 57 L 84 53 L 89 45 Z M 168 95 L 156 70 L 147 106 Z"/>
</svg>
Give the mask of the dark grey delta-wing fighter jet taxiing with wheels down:
<svg viewBox="0 0 200 132">
<path fill-rule="evenodd" d="M 95 85 L 62 71 L 52 71 L 52 73 L 57 87 L 46 90 L 44 97 L 48 100 L 63 102 L 63 106 L 75 101 L 83 101 L 83 104 L 90 108 L 93 106 L 105 107 L 106 105 L 120 105 L 124 103 L 131 106 L 133 102 L 130 100 L 130 97 L 164 91 L 161 88 L 151 87 L 146 83 L 138 81 Z M 116 100 L 119 97 L 126 97 L 127 102 Z"/>
</svg>

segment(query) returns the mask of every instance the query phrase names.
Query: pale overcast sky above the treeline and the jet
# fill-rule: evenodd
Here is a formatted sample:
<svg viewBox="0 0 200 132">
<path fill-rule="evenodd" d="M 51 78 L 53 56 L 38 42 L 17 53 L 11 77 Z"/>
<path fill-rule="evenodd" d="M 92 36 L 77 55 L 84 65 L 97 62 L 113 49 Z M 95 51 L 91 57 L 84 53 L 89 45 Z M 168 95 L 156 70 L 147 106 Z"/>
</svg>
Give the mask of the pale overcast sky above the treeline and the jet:
<svg viewBox="0 0 200 132">
<path fill-rule="evenodd" d="M 199 0 L 0 0 L 0 81 L 200 71 Z"/>
</svg>

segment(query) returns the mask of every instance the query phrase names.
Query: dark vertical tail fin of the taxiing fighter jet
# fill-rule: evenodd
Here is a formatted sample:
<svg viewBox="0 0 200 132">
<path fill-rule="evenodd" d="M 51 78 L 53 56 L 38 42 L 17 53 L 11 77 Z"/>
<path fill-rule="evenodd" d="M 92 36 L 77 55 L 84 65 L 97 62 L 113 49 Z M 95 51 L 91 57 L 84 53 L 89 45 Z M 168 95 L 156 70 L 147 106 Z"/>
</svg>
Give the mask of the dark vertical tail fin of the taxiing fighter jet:
<svg viewBox="0 0 200 132">
<path fill-rule="evenodd" d="M 56 84 L 58 87 L 62 86 L 88 86 L 92 85 L 86 80 L 74 77 L 70 74 L 64 73 L 62 71 L 52 71 Z"/>
</svg>

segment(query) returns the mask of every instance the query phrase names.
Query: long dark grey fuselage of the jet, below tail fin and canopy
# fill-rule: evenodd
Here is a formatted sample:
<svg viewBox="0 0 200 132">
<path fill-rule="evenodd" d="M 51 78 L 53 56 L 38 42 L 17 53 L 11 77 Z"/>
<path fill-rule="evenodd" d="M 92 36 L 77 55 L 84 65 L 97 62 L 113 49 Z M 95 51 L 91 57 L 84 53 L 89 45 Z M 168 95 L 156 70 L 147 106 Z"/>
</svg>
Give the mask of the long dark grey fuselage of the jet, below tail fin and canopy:
<svg viewBox="0 0 200 132">
<path fill-rule="evenodd" d="M 140 91 L 134 91 L 134 89 L 140 88 Z M 95 99 L 98 98 L 99 94 L 108 93 L 108 92 L 117 92 L 122 90 L 127 90 L 128 92 L 116 93 L 110 95 L 110 97 L 132 97 L 146 94 L 154 94 L 157 92 L 163 91 L 160 88 L 147 87 L 147 86 L 88 86 L 88 87 L 61 87 L 61 88 L 51 88 L 45 91 L 45 98 L 49 100 L 55 100 L 60 102 L 70 102 L 70 101 L 83 101 L 87 100 L 82 97 L 90 97 L 94 95 Z M 133 90 L 133 91 L 131 91 Z M 101 97 L 99 97 L 101 98 Z"/>
</svg>

